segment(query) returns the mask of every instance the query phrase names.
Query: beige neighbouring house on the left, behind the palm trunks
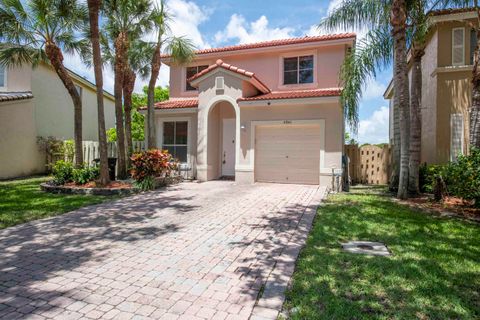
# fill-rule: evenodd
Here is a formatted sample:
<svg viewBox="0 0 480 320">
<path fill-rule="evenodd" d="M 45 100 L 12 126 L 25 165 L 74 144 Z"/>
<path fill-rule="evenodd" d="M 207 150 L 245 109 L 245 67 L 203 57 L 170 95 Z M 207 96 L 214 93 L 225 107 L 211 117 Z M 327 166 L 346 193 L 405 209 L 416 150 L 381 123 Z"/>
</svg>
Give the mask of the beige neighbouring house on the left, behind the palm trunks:
<svg viewBox="0 0 480 320">
<path fill-rule="evenodd" d="M 95 86 L 70 71 L 83 102 L 83 139 L 97 140 Z M 114 97 L 105 92 L 106 127 L 115 126 Z M 37 137 L 73 139 L 73 103 L 46 64 L 0 66 L 0 179 L 45 172 Z"/>
</svg>

